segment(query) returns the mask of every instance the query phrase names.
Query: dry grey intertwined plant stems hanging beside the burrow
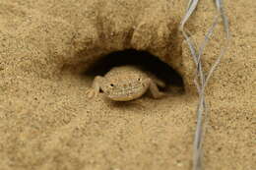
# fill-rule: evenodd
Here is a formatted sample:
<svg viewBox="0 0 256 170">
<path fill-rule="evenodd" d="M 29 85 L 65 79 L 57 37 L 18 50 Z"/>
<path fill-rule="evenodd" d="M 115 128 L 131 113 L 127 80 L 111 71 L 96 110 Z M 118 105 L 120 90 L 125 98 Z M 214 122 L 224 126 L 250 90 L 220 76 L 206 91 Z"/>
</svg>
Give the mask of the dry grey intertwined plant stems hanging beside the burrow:
<svg viewBox="0 0 256 170">
<path fill-rule="evenodd" d="M 196 45 L 194 40 L 191 38 L 191 35 L 188 30 L 185 30 L 184 25 L 190 18 L 190 16 L 195 11 L 199 0 L 190 0 L 188 3 L 188 8 L 186 10 L 186 14 L 183 17 L 181 24 L 180 24 L 180 30 L 182 34 L 185 37 L 185 40 L 189 46 L 191 55 L 193 57 L 194 63 L 196 65 L 196 73 L 195 73 L 195 85 L 198 90 L 199 94 L 199 103 L 197 107 L 197 127 L 195 132 L 195 138 L 194 138 L 194 155 L 193 155 L 193 169 L 194 170 L 201 170 L 202 169 L 202 162 L 203 162 L 203 141 L 204 141 L 204 135 L 206 132 L 206 126 L 207 126 L 207 119 L 208 119 L 208 108 L 206 105 L 205 100 L 205 88 L 209 82 L 209 79 L 213 75 L 213 72 L 216 70 L 217 66 L 220 64 L 221 59 L 224 56 L 224 52 L 227 49 L 228 43 L 229 43 L 229 28 L 228 28 L 228 21 L 224 14 L 224 7 L 223 7 L 223 1 L 222 0 L 215 0 L 216 7 L 218 10 L 218 15 L 216 19 L 214 20 L 214 23 L 212 27 L 208 30 L 208 32 L 205 35 L 205 40 L 201 43 L 199 49 L 196 49 Z M 225 45 L 221 48 L 221 53 L 215 63 L 213 64 L 212 68 L 210 69 L 209 73 L 205 75 L 202 68 L 202 62 L 201 62 L 201 56 L 204 52 L 204 49 L 206 45 L 208 44 L 210 37 L 213 35 L 214 29 L 216 28 L 218 24 L 218 20 L 220 19 L 220 16 L 223 20 L 224 24 L 224 31 L 225 31 Z"/>
</svg>

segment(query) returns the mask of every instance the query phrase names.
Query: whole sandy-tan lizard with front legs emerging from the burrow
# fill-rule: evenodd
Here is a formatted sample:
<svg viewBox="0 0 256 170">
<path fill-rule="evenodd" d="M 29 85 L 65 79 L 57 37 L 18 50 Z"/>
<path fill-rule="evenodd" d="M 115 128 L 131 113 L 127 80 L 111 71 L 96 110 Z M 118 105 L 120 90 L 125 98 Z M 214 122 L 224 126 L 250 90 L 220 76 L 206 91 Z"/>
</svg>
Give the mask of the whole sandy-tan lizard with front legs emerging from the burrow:
<svg viewBox="0 0 256 170">
<path fill-rule="evenodd" d="M 89 98 L 97 96 L 100 89 L 107 98 L 114 101 L 130 101 L 150 90 L 154 98 L 164 95 L 159 87 L 165 84 L 156 76 L 138 66 L 125 65 L 110 69 L 103 77 L 96 76 L 92 87 L 87 90 Z"/>
</svg>

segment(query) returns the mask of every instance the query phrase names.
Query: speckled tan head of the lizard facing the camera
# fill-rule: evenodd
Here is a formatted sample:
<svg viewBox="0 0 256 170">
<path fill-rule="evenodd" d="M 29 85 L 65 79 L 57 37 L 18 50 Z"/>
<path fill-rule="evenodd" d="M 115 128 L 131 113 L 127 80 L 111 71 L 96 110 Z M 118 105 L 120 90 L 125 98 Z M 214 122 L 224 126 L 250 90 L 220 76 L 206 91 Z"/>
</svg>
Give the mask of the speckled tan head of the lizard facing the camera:
<svg viewBox="0 0 256 170">
<path fill-rule="evenodd" d="M 142 96 L 148 89 L 150 80 L 143 74 L 130 73 L 104 79 L 100 85 L 106 97 L 115 101 L 129 101 Z"/>
</svg>

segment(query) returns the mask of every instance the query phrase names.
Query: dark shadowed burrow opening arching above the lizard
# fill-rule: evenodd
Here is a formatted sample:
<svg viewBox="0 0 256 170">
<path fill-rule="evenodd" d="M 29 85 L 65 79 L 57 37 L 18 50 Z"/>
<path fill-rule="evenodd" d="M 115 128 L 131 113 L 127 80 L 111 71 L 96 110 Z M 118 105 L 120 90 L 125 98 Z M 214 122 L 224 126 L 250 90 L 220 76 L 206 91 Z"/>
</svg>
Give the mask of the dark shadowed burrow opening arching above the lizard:
<svg viewBox="0 0 256 170">
<path fill-rule="evenodd" d="M 100 57 L 83 75 L 92 78 L 104 76 L 111 68 L 123 65 L 140 66 L 143 70 L 154 74 L 162 80 L 167 85 L 167 88 L 175 86 L 178 87 L 179 92 L 184 92 L 182 77 L 166 63 L 160 61 L 157 56 L 147 51 L 129 49 L 112 52 Z"/>
</svg>

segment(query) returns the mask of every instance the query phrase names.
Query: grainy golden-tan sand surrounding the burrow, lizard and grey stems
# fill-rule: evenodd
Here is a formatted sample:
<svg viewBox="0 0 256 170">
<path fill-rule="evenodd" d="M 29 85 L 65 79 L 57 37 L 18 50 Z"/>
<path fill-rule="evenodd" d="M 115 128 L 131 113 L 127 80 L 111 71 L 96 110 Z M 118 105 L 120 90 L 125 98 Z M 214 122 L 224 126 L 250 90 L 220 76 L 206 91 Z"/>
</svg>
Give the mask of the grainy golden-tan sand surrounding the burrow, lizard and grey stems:
<svg viewBox="0 0 256 170">
<path fill-rule="evenodd" d="M 198 99 L 194 65 L 177 32 L 186 3 L 1 0 L 0 170 L 191 169 Z M 253 170 L 255 2 L 226 0 L 225 6 L 232 40 L 207 90 L 205 167 Z M 203 39 L 215 12 L 212 1 L 201 3 L 188 24 L 195 39 Z M 222 29 L 207 47 L 206 69 L 219 53 Z M 129 48 L 169 64 L 185 92 L 170 85 L 158 100 L 88 99 L 92 77 L 84 71 Z"/>
</svg>

